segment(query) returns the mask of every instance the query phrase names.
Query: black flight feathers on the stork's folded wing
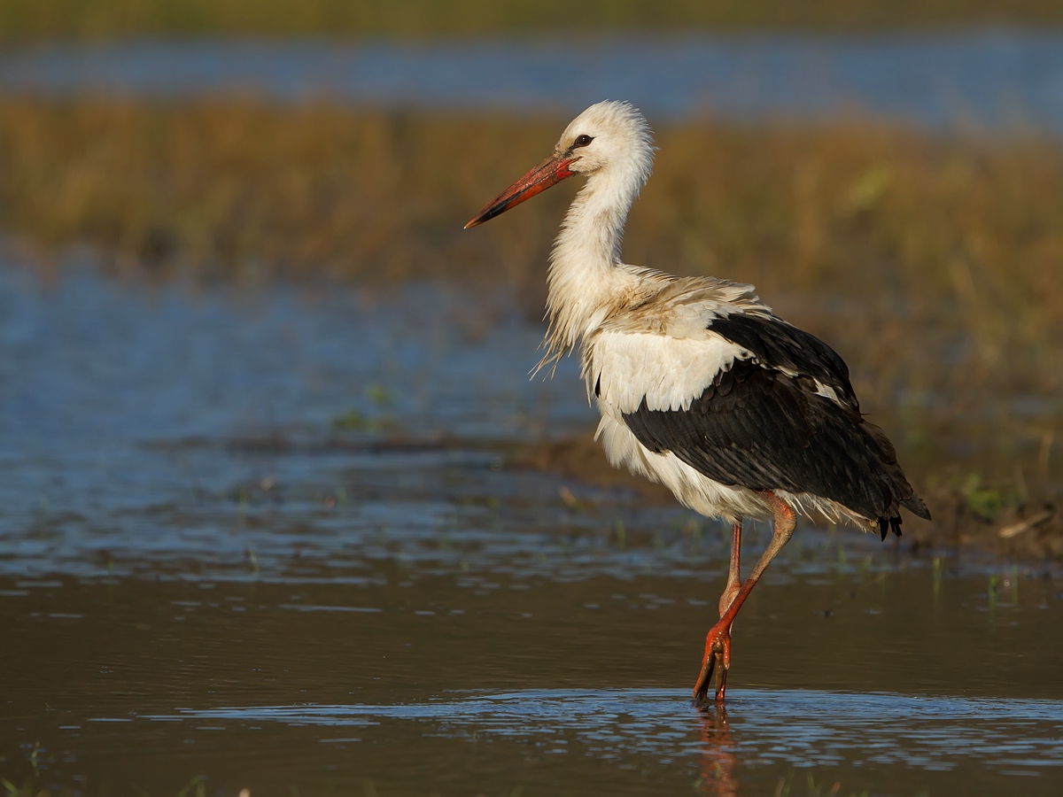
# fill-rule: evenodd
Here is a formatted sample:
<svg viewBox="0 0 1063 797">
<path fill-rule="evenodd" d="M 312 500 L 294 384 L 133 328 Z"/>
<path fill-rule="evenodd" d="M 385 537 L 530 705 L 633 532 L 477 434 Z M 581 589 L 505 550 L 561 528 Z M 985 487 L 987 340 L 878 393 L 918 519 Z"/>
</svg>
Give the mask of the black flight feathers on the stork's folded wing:
<svg viewBox="0 0 1063 797">
<path fill-rule="evenodd" d="M 624 414 L 640 443 L 724 485 L 830 498 L 877 520 L 883 539 L 900 536 L 899 506 L 929 520 L 885 434 L 861 418 L 833 350 L 772 317 L 736 313 L 709 328 L 753 358 L 721 370 L 689 410 L 651 410 L 643 398 Z M 815 380 L 839 402 L 817 395 Z"/>
</svg>

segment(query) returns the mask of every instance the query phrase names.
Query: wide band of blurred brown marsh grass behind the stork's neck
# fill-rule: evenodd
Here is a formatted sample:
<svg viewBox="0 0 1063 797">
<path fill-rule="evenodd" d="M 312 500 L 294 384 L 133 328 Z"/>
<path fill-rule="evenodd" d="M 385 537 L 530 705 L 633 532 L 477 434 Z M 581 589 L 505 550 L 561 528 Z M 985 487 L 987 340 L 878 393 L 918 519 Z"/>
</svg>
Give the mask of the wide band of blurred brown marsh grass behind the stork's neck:
<svg viewBox="0 0 1063 797">
<path fill-rule="evenodd" d="M 574 186 L 461 225 L 564 121 L 9 99 L 0 230 L 119 272 L 460 279 L 537 313 Z M 1063 149 L 860 124 L 657 139 L 628 261 L 756 284 L 847 359 L 924 484 L 992 503 L 1060 481 Z"/>
</svg>

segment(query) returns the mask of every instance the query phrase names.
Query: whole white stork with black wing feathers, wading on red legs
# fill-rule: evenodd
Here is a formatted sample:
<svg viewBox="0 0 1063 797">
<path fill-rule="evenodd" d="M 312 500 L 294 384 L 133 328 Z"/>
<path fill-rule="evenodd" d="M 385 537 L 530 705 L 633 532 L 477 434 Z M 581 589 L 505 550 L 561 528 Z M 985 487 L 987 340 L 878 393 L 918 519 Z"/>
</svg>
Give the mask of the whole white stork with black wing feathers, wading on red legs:
<svg viewBox="0 0 1063 797">
<path fill-rule="evenodd" d="M 609 461 L 658 481 L 684 505 L 732 524 L 720 622 L 694 685 L 715 673 L 722 701 L 730 630 L 797 514 L 900 535 L 901 506 L 929 520 L 883 431 L 860 414 L 845 362 L 787 323 L 753 286 L 677 277 L 620 259 L 631 203 L 653 168 L 653 136 L 626 102 L 591 105 L 554 153 L 503 191 L 472 227 L 584 174 L 554 243 L 544 363 L 579 345 Z M 766 550 L 740 578 L 742 519 L 774 519 Z"/>
</svg>

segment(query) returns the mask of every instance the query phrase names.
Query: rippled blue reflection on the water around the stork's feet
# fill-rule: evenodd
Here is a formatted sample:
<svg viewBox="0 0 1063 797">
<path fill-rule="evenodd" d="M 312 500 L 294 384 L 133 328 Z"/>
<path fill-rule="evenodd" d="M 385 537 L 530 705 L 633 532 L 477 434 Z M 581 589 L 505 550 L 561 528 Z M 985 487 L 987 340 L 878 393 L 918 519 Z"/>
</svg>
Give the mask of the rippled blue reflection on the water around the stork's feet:
<svg viewBox="0 0 1063 797">
<path fill-rule="evenodd" d="M 728 692 L 728 744 L 749 766 L 896 765 L 947 771 L 963 760 L 989 769 L 1063 767 L 1063 701 L 999 700 L 813 690 Z M 699 765 L 704 724 L 698 710 L 670 690 L 530 690 L 442 695 L 396 706 L 277 706 L 183 709 L 141 720 L 320 726 L 370 736 L 382 723 L 426 726 L 433 734 L 512 741 L 561 740 L 598 758 L 679 757 Z M 1033 774 L 1033 773 L 1030 773 Z"/>
</svg>

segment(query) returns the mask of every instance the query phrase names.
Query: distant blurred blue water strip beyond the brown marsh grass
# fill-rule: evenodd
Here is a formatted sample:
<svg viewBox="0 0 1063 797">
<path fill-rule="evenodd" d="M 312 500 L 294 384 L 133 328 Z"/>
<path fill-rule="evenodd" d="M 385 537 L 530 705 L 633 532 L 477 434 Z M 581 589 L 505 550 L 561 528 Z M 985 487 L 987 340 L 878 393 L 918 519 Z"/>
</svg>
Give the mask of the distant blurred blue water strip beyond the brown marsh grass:
<svg viewBox="0 0 1063 797">
<path fill-rule="evenodd" d="M 933 129 L 1063 131 L 1063 37 L 951 31 L 342 44 L 43 45 L 0 53 L 0 90 L 242 94 L 410 108 L 572 114 L 627 99 L 656 118 L 871 116 Z"/>
</svg>

